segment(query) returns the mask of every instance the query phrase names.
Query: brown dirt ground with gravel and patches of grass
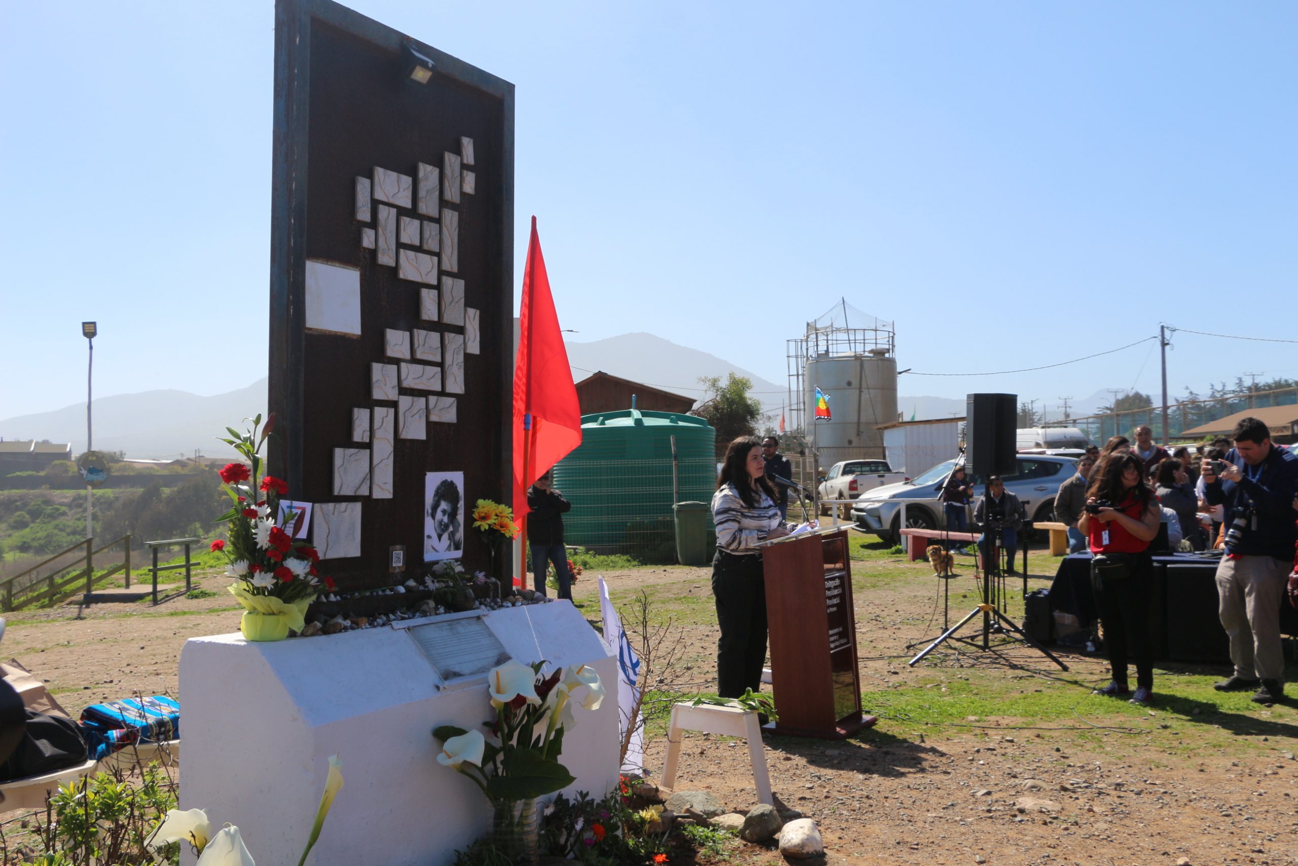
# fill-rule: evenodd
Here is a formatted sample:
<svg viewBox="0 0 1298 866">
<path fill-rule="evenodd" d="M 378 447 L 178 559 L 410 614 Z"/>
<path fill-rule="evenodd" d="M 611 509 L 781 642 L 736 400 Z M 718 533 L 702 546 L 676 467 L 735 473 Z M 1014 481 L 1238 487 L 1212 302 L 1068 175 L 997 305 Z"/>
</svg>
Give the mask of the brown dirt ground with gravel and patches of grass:
<svg viewBox="0 0 1298 866">
<path fill-rule="evenodd" d="M 1053 573 L 1041 560 L 1035 565 Z M 1022 647 L 941 652 L 909 667 L 906 644 L 941 626 L 927 569 L 900 557 L 854 563 L 862 702 L 879 724 L 846 741 L 765 744 L 778 806 L 816 819 L 828 863 L 1298 863 L 1298 704 L 1214 702 L 1208 684 L 1225 671 L 1180 666 L 1157 671 L 1153 709 L 1118 706 L 1090 695 L 1107 679 L 1102 661 L 1066 656 L 1071 670 L 1062 673 Z M 593 578 L 575 591 L 592 621 Z M 605 578 L 619 602 L 640 588 L 662 599 L 700 679 L 715 684 L 707 570 Z M 70 713 L 131 692 L 178 695 L 184 641 L 238 627 L 223 583 L 206 576 L 214 597 L 158 608 L 19 612 L 3 652 L 45 679 Z M 1045 586 L 1044 575 L 1033 586 Z M 953 582 L 953 621 L 972 606 L 971 589 L 972 580 Z M 984 709 L 951 718 L 954 700 Z M 1033 701 L 1049 718 L 1022 710 Z M 650 776 L 665 747 L 661 735 L 648 744 Z M 710 791 L 746 810 L 755 802 L 750 779 L 741 743 L 687 737 L 678 789 Z M 750 845 L 726 860 L 780 862 Z"/>
</svg>

